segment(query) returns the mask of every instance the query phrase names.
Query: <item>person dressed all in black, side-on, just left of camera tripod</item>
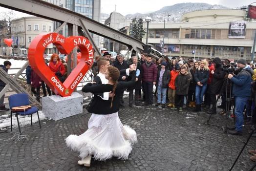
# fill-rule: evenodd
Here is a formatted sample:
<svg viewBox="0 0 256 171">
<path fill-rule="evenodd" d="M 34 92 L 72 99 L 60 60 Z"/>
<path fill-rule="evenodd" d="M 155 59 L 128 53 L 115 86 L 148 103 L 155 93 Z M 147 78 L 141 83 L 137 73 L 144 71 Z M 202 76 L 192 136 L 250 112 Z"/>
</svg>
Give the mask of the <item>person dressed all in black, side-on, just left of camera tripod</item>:
<svg viewBox="0 0 256 171">
<path fill-rule="evenodd" d="M 213 65 L 215 67 L 215 70 L 211 71 L 211 73 L 213 74 L 213 79 L 208 89 L 208 94 L 210 95 L 213 107 L 207 111 L 207 113 L 209 114 L 216 114 L 216 95 L 220 93 L 225 76 L 222 62 L 218 57 L 214 58 Z"/>
</svg>

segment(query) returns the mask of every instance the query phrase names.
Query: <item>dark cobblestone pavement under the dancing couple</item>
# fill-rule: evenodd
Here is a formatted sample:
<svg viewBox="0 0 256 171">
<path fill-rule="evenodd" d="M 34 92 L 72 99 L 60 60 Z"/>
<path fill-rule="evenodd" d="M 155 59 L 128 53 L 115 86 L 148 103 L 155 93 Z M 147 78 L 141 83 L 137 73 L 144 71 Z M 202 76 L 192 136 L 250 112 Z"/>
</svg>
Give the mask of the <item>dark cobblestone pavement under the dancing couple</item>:
<svg viewBox="0 0 256 171">
<path fill-rule="evenodd" d="M 19 141 L 18 128 L 0 133 L 0 171 L 228 171 L 249 135 L 247 127 L 243 136 L 232 136 L 207 125 L 209 115 L 204 112 L 128 107 L 127 99 L 125 106 L 119 117 L 138 138 L 128 160 L 92 160 L 90 168 L 77 164 L 78 153 L 68 149 L 64 139 L 87 129 L 90 114 L 84 110 L 56 122 L 43 120 L 42 129 L 38 123 L 25 126 L 22 135 L 28 137 Z M 214 115 L 210 122 L 225 126 L 225 121 Z M 252 137 L 233 171 L 248 171 L 255 164 L 248 153 L 256 149 L 255 141 Z"/>
</svg>

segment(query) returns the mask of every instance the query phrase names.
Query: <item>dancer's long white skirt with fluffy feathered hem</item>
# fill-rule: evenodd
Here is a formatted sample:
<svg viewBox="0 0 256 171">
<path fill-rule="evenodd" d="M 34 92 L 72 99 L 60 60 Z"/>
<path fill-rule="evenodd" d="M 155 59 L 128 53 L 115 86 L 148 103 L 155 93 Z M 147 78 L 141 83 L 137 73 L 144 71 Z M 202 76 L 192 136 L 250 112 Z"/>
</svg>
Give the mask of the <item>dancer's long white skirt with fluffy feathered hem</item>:
<svg viewBox="0 0 256 171">
<path fill-rule="evenodd" d="M 69 135 L 67 147 L 80 153 L 82 159 L 93 155 L 96 160 L 107 160 L 112 156 L 128 159 L 131 145 L 137 142 L 135 130 L 121 123 L 118 113 L 92 114 L 85 133 Z"/>
</svg>

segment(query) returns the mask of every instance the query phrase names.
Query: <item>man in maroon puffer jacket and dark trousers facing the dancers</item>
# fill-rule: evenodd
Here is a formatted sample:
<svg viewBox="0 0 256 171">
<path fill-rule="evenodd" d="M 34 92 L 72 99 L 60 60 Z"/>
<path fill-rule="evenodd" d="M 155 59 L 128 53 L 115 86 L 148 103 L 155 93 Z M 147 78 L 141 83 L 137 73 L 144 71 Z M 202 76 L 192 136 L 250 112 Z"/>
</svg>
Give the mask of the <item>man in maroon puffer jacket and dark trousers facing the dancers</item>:
<svg viewBox="0 0 256 171">
<path fill-rule="evenodd" d="M 153 104 L 153 85 L 156 84 L 157 66 L 152 62 L 152 56 L 148 55 L 147 61 L 142 64 L 142 81 L 144 93 L 146 95 L 145 106 Z"/>
</svg>

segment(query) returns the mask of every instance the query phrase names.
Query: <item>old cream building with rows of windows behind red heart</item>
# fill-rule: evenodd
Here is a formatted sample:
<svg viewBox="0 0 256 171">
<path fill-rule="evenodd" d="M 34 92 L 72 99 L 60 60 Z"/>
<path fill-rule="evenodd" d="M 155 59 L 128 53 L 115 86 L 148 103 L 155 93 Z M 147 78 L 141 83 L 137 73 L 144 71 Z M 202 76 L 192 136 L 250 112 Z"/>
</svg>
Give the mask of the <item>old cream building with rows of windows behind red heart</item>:
<svg viewBox="0 0 256 171">
<path fill-rule="evenodd" d="M 23 17 L 12 21 L 11 34 L 14 53 L 25 54 L 32 40 L 39 34 L 52 33 L 53 21 L 39 17 Z M 52 44 L 49 44 L 45 53 L 52 53 Z"/>
</svg>

